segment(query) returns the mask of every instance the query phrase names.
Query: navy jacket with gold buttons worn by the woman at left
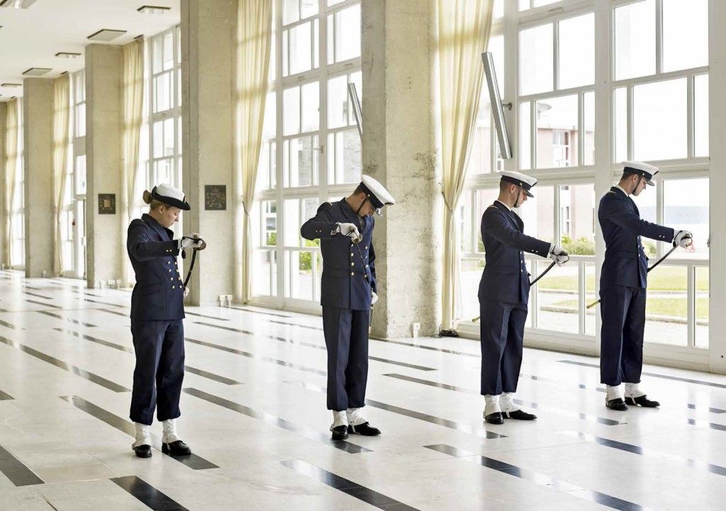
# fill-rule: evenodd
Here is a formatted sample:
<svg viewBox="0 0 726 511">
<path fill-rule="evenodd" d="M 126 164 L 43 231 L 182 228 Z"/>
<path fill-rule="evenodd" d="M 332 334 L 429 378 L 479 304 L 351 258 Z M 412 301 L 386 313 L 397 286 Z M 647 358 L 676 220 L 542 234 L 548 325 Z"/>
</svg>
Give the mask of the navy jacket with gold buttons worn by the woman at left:
<svg viewBox="0 0 726 511">
<path fill-rule="evenodd" d="M 184 290 L 176 266 L 179 242 L 174 232 L 144 213 L 129 224 L 126 250 L 136 273 L 131 319 L 184 319 Z"/>
</svg>

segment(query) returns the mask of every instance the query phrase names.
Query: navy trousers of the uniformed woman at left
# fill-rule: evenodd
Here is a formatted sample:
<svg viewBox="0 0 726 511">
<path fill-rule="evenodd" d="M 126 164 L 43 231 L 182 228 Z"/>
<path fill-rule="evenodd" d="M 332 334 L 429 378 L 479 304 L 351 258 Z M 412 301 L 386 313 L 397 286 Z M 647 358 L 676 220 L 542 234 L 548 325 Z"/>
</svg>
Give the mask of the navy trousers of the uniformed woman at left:
<svg viewBox="0 0 726 511">
<path fill-rule="evenodd" d="M 181 319 L 131 319 L 131 335 L 136 351 L 131 420 L 151 425 L 155 408 L 159 421 L 176 419 L 184 380 L 184 324 Z"/>
</svg>

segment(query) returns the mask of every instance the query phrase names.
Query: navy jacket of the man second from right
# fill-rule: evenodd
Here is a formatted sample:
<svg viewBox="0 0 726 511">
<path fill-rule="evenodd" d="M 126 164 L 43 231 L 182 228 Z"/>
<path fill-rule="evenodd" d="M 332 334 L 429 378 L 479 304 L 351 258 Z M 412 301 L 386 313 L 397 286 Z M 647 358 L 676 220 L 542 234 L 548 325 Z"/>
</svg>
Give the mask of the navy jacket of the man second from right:
<svg viewBox="0 0 726 511">
<path fill-rule="evenodd" d="M 524 253 L 542 257 L 550 254 L 550 243 L 523 234 L 521 218 L 499 203 L 490 205 L 481 216 L 481 241 L 486 266 L 479 282 L 479 300 L 508 303 L 529 301 L 529 274 Z"/>
</svg>

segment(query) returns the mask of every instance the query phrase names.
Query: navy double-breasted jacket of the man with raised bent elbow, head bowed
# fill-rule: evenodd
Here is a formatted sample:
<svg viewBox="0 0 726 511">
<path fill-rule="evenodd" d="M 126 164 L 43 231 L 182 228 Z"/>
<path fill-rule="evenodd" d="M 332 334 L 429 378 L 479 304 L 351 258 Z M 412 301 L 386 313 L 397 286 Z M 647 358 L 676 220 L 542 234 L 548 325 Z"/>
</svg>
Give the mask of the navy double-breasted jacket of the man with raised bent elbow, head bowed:
<svg viewBox="0 0 726 511">
<path fill-rule="evenodd" d="M 306 240 L 320 240 L 323 258 L 320 305 L 323 307 L 370 310 L 371 290 L 378 293 L 373 250 L 375 221 L 372 216 L 365 216 L 364 221 L 361 230 L 359 217 L 343 199 L 335 203 L 322 203 L 316 215 L 300 228 L 300 234 Z M 360 253 L 351 237 L 340 233 L 335 236 L 330 234 L 336 223 L 354 224 L 359 228 L 363 234 L 362 242 L 358 243 Z M 366 272 L 370 282 L 365 277 Z"/>
</svg>

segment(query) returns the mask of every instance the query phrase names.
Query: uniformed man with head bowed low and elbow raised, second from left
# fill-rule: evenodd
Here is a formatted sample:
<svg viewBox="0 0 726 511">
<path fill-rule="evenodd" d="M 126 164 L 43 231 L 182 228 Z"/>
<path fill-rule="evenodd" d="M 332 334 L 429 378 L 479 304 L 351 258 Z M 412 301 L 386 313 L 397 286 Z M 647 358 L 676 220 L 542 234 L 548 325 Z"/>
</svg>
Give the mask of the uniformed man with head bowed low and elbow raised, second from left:
<svg viewBox="0 0 726 511">
<path fill-rule="evenodd" d="M 363 176 L 352 195 L 323 203 L 300 229 L 306 240 L 319 239 L 322 251 L 320 304 L 333 440 L 344 440 L 348 433 L 380 435 L 360 410 L 368 379 L 370 308 L 378 300 L 372 214 L 395 202 L 382 184 Z"/>
</svg>

